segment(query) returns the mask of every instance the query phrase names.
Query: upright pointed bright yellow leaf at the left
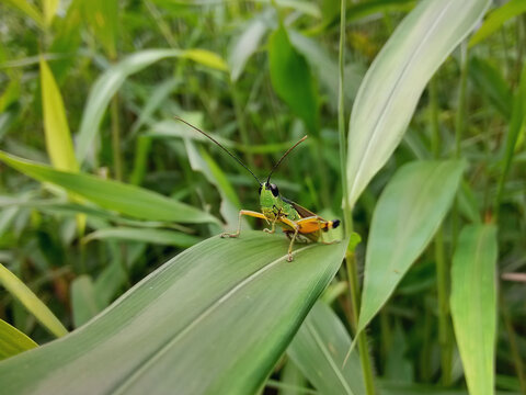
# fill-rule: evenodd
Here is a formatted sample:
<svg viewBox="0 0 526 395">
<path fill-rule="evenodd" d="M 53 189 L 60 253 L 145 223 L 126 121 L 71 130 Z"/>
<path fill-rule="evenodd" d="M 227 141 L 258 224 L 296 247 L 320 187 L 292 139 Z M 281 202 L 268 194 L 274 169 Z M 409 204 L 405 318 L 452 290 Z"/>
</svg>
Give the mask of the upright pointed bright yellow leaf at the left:
<svg viewBox="0 0 526 395">
<path fill-rule="evenodd" d="M 46 147 L 55 168 L 78 171 L 62 97 L 46 60 L 41 57 L 42 106 Z"/>
</svg>

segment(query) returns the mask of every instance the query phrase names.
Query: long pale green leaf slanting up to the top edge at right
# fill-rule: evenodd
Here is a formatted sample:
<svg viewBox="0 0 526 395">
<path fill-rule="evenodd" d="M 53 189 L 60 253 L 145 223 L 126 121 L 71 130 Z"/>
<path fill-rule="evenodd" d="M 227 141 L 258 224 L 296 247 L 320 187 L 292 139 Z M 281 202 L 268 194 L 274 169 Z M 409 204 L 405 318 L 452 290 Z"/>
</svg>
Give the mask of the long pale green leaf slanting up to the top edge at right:
<svg viewBox="0 0 526 395">
<path fill-rule="evenodd" d="M 422 1 L 376 57 L 351 114 L 346 169 L 350 206 L 402 139 L 427 81 L 473 29 L 489 3 Z"/>
</svg>

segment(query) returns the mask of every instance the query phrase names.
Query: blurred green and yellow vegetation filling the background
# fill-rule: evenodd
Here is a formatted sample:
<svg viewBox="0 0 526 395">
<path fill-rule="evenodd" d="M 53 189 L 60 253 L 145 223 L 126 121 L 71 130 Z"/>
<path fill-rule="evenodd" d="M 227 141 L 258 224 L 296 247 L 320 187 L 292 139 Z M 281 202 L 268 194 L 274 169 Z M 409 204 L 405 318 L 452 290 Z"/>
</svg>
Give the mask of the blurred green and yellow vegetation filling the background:
<svg viewBox="0 0 526 395">
<path fill-rule="evenodd" d="M 415 3 L 348 2 L 346 120 L 365 71 Z M 447 59 L 354 211 L 366 242 L 378 195 L 401 165 L 469 161 L 439 242 L 450 257 L 461 222 L 499 224 L 499 273 L 508 280 L 499 281 L 498 387 L 512 391 L 521 381 L 525 391 L 526 295 L 510 274 L 526 267 L 525 11 L 518 4 Z M 331 0 L 0 1 L 2 150 L 155 191 L 222 223 L 174 225 L 151 219 L 151 206 L 141 215 L 92 205 L 2 165 L 0 261 L 73 329 L 170 257 L 235 228 L 239 208 L 258 210 L 251 176 L 174 115 L 209 131 L 260 177 L 309 134 L 274 182 L 309 210 L 341 217 L 339 15 Z M 435 259 L 432 246 L 370 326 L 386 379 L 449 385 L 461 375 L 456 351 L 451 371 L 439 369 Z M 347 321 L 350 301 L 332 290 Z M 53 338 L 3 291 L 0 317 L 38 343 Z"/>
</svg>

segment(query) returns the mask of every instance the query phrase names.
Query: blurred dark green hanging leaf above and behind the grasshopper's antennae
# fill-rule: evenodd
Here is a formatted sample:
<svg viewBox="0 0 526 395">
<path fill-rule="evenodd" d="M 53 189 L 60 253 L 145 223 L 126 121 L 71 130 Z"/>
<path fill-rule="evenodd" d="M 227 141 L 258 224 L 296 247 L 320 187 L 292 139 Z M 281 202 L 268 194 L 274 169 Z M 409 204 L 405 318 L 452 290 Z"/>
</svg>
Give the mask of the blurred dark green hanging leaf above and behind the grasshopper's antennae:
<svg viewBox="0 0 526 395">
<path fill-rule="evenodd" d="M 277 95 L 310 132 L 318 134 L 318 98 L 309 65 L 290 44 L 283 25 L 268 38 L 268 61 L 272 86 Z"/>
</svg>

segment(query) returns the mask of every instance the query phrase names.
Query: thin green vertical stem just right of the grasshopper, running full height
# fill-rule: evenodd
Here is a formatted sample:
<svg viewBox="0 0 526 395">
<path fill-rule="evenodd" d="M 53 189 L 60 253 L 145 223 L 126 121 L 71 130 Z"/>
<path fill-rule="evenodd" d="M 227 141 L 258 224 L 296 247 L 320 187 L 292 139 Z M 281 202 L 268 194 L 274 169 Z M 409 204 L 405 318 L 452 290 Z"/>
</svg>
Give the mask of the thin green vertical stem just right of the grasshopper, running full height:
<svg viewBox="0 0 526 395">
<path fill-rule="evenodd" d="M 338 131 L 340 138 L 340 168 L 342 173 L 342 191 L 343 191 L 343 218 L 345 226 L 345 236 L 351 237 L 353 232 L 353 219 L 351 207 L 348 204 L 348 185 L 346 178 L 346 138 L 345 138 L 345 109 L 344 109 L 344 59 L 345 59 L 345 0 L 341 0 L 340 10 L 340 54 L 339 54 L 339 88 L 338 88 Z M 356 330 L 358 323 L 359 308 L 359 290 L 358 290 L 358 271 L 356 268 L 356 256 L 354 251 L 347 248 L 345 253 L 345 268 L 348 279 L 348 291 L 353 308 L 351 326 Z M 364 375 L 365 390 L 367 395 L 375 394 L 375 384 L 373 376 L 373 366 L 367 348 L 367 339 L 365 332 L 358 334 L 358 353 Z"/>
</svg>

